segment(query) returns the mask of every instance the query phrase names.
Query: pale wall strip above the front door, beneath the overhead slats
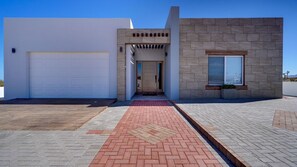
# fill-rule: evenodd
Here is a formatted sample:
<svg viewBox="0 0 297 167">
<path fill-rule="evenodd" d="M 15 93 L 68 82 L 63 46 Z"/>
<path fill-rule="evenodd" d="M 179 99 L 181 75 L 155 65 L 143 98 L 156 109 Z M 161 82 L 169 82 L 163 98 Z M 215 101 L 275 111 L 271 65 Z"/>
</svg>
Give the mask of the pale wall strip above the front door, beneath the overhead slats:
<svg viewBox="0 0 297 167">
<path fill-rule="evenodd" d="M 163 49 L 135 49 L 136 61 L 164 61 L 165 50 Z"/>
</svg>

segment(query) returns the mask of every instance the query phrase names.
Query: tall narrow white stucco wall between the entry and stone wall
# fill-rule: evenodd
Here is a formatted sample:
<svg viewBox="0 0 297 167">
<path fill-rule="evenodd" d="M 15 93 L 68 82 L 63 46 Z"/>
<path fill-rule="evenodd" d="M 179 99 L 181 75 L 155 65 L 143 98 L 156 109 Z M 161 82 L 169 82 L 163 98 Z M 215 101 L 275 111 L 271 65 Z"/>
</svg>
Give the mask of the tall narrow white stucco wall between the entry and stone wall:
<svg viewBox="0 0 297 167">
<path fill-rule="evenodd" d="M 179 99 L 179 8 L 172 7 L 165 28 L 170 29 L 170 45 L 165 67 L 165 95 Z"/>
</svg>

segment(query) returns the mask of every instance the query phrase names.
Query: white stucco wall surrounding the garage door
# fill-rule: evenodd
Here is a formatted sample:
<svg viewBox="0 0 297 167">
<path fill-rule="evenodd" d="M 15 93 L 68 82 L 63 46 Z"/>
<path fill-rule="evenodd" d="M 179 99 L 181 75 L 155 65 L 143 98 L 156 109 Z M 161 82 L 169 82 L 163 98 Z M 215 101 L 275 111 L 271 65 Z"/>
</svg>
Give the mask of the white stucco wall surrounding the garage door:
<svg viewBox="0 0 297 167">
<path fill-rule="evenodd" d="M 117 96 L 117 29 L 130 19 L 4 19 L 5 99 L 29 97 L 29 52 L 108 52 L 109 94 Z M 16 48 L 16 53 L 11 49 Z"/>
</svg>

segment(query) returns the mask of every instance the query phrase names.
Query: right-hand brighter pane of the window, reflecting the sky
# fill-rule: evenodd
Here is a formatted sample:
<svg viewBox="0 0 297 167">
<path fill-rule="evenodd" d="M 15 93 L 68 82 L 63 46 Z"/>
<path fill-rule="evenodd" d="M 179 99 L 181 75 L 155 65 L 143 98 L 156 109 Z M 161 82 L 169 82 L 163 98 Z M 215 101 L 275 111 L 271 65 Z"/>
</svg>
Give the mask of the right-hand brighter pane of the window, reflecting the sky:
<svg viewBox="0 0 297 167">
<path fill-rule="evenodd" d="M 242 57 L 227 56 L 225 84 L 242 84 Z"/>
</svg>

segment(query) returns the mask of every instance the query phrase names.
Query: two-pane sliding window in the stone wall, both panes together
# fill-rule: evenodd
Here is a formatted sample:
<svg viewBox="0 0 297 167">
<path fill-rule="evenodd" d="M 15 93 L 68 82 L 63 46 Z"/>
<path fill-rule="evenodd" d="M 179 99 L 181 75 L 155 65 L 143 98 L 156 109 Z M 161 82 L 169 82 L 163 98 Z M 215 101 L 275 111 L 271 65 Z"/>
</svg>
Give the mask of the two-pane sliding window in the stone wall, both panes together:
<svg viewBox="0 0 297 167">
<path fill-rule="evenodd" d="M 209 85 L 243 85 L 243 56 L 209 56 Z"/>
</svg>

